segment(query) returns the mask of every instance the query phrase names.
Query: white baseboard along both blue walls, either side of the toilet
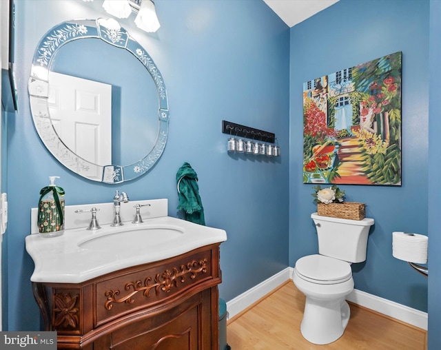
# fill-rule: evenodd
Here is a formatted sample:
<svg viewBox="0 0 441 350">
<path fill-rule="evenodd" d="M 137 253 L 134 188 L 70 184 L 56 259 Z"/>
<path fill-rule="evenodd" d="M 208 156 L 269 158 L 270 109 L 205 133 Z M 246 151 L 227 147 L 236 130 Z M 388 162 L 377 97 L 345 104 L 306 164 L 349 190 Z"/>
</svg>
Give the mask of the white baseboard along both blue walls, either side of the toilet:
<svg viewBox="0 0 441 350">
<path fill-rule="evenodd" d="M 292 267 L 287 267 L 278 274 L 252 287 L 252 289 L 240 294 L 240 296 L 229 300 L 227 302 L 227 318 L 233 318 L 247 309 L 247 307 L 253 305 L 254 302 L 263 298 L 280 285 L 283 285 L 287 280 L 292 280 L 293 271 L 294 269 Z M 353 289 L 351 294 L 347 296 L 347 300 L 427 331 L 427 312 L 413 309 L 398 304 L 398 302 L 380 298 L 379 296 L 373 296 L 358 289 Z"/>
</svg>

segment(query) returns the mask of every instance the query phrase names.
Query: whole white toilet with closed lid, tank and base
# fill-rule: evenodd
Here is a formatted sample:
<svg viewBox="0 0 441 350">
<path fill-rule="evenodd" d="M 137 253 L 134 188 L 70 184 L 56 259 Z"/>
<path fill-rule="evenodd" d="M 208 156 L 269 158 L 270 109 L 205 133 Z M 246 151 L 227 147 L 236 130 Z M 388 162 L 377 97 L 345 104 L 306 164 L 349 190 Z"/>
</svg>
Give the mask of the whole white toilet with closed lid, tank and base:
<svg viewBox="0 0 441 350">
<path fill-rule="evenodd" d="M 347 220 L 311 214 L 317 229 L 318 253 L 296 261 L 293 280 L 306 296 L 300 331 L 314 344 L 342 336 L 349 320 L 345 298 L 353 289 L 351 263 L 366 260 L 372 218 Z"/>
</svg>

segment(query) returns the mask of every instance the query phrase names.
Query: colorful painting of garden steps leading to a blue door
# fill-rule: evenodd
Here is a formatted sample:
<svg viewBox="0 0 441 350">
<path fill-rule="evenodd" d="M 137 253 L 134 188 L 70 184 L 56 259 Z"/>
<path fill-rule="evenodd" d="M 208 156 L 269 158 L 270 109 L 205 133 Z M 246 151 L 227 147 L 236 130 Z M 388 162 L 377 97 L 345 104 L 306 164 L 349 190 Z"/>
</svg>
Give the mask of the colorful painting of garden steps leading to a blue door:
<svg viewBox="0 0 441 350">
<path fill-rule="evenodd" d="M 401 185 L 396 52 L 303 85 L 303 183 Z"/>
</svg>

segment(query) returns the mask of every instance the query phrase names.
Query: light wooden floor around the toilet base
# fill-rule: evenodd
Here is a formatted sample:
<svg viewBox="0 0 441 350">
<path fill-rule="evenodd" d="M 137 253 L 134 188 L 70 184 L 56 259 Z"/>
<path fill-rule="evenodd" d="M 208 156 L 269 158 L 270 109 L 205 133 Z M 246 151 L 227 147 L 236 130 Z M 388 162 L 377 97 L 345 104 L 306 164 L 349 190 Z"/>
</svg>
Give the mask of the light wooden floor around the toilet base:
<svg viewBox="0 0 441 350">
<path fill-rule="evenodd" d="M 227 342 L 232 350 L 426 349 L 426 331 L 351 303 L 349 306 L 351 318 L 343 336 L 331 344 L 311 344 L 300 333 L 305 296 L 288 281 L 229 320 Z"/>
</svg>

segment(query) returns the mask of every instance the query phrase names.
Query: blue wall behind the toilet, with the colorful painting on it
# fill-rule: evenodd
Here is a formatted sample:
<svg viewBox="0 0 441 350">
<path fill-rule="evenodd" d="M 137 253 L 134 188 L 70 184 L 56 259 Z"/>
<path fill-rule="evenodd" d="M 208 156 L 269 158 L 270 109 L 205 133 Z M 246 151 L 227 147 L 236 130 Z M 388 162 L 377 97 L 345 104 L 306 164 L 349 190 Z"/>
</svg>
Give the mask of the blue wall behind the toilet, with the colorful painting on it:
<svg viewBox="0 0 441 350">
<path fill-rule="evenodd" d="M 428 234 L 429 1 L 340 0 L 291 28 L 289 265 L 317 252 L 309 215 L 313 185 L 302 184 L 302 83 L 402 51 L 402 186 L 341 185 L 376 223 L 355 287 L 427 311 L 427 278 L 392 256 L 392 232 Z"/>
</svg>

